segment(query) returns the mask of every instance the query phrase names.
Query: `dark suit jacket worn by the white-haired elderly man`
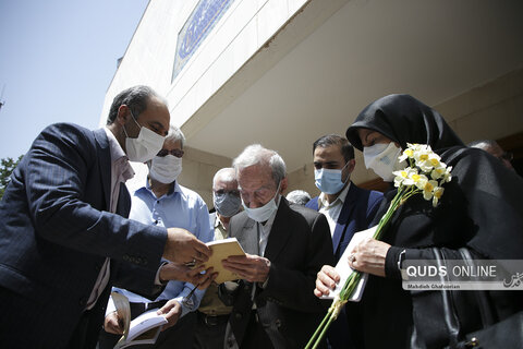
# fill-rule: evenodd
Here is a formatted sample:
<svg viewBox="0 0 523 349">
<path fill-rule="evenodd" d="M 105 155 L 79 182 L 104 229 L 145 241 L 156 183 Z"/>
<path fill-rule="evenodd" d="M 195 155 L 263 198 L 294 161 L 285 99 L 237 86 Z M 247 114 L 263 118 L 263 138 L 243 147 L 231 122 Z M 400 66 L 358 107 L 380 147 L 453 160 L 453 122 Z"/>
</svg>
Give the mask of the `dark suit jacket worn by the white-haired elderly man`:
<svg viewBox="0 0 523 349">
<path fill-rule="evenodd" d="M 229 231 L 245 252 L 257 254 L 256 224 L 245 212 L 231 218 Z M 333 263 L 327 219 L 281 197 L 265 257 L 271 263 L 266 288 L 254 285 L 259 321 L 275 348 L 304 348 L 330 305 L 313 293 L 316 274 L 323 265 Z M 235 291 L 226 334 L 229 348 L 243 340 L 252 314 L 252 282 L 242 280 Z"/>
</svg>

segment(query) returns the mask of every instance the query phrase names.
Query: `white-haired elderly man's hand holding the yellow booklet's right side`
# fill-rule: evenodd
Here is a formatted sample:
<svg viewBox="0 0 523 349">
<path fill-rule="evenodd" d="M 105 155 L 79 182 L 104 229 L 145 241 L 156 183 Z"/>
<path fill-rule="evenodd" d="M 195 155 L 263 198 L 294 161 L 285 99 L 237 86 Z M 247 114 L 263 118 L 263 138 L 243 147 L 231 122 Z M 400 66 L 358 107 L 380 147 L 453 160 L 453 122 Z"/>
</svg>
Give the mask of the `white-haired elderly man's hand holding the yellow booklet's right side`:
<svg viewBox="0 0 523 349">
<path fill-rule="evenodd" d="M 250 282 L 265 282 L 269 276 L 270 261 L 255 254 L 231 255 L 221 262 L 228 270 Z"/>
</svg>

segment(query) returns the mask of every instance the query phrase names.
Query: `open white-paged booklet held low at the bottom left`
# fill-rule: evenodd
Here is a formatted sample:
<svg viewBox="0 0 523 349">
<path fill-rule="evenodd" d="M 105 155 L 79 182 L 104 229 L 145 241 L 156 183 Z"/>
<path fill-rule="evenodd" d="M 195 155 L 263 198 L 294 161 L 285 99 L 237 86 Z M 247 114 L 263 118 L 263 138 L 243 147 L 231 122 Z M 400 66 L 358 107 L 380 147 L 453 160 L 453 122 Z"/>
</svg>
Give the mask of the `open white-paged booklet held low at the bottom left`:
<svg viewBox="0 0 523 349">
<path fill-rule="evenodd" d="M 114 346 L 114 349 L 126 348 L 136 345 L 153 345 L 160 335 L 161 328 L 167 324 L 163 315 L 158 315 L 158 309 L 151 309 L 131 321 L 131 309 L 125 296 L 112 292 L 112 300 L 123 321 L 123 335 Z"/>
</svg>

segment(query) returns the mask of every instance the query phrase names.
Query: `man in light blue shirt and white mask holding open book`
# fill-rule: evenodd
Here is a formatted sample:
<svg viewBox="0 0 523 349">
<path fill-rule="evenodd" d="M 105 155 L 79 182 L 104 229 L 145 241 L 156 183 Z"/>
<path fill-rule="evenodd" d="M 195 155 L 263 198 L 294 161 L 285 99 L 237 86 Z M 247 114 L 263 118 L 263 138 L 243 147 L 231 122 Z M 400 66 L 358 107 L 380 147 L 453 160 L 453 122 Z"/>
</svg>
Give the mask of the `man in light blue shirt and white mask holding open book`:
<svg viewBox="0 0 523 349">
<path fill-rule="evenodd" d="M 162 149 L 148 163 L 149 176 L 145 186 L 134 192 L 130 218 L 147 225 L 184 228 L 192 231 L 198 240 L 208 242 L 212 240 L 214 233 L 207 205 L 197 193 L 177 182 L 182 171 L 184 141 L 180 129 L 171 125 Z M 160 311 L 169 321 L 168 326 L 172 327 L 160 334 L 153 348 L 191 348 L 196 324 L 194 311 L 205 293 L 202 289 L 191 292 L 194 287 L 188 282 L 169 281 L 156 300 L 148 300 L 124 289 L 113 288 L 113 291 L 127 297 L 132 318 L 146 310 L 161 308 Z M 105 329 L 106 333 L 100 336 L 100 348 L 112 348 L 122 333 L 122 326 L 111 300 L 106 311 Z"/>
</svg>

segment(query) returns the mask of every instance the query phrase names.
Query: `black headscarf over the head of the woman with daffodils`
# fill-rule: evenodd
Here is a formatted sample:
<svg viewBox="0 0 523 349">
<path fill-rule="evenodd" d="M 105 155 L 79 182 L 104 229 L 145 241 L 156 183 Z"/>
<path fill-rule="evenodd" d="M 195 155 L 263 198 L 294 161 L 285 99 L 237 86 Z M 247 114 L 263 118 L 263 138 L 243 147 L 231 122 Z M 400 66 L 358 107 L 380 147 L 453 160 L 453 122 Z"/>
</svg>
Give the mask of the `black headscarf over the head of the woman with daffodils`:
<svg viewBox="0 0 523 349">
<path fill-rule="evenodd" d="M 357 129 L 378 131 L 406 148 L 406 143 L 428 144 L 433 151 L 463 145 L 443 118 L 409 95 L 389 95 L 368 105 L 346 130 L 346 139 L 363 151 Z"/>
</svg>

